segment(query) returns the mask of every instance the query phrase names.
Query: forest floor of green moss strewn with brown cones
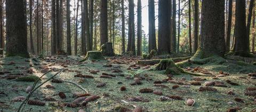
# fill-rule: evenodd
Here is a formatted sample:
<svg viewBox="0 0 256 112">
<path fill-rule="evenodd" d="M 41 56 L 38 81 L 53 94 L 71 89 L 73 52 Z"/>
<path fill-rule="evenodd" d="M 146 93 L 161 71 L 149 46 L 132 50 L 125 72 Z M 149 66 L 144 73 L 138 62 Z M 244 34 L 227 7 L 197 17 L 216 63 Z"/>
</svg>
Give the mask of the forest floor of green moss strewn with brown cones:
<svg viewBox="0 0 256 112">
<path fill-rule="evenodd" d="M 139 60 L 137 57 L 108 57 L 105 61 L 79 62 L 82 59 L 83 57 L 77 56 L 32 57 L 30 59 L 21 57 L 1 58 L 0 111 L 17 111 L 22 103 L 22 98 L 29 94 L 26 93 L 27 87 L 34 84 L 34 82 L 17 81 L 15 78 L 27 75 L 40 77 L 53 68 L 65 69 L 55 77 L 64 82 L 53 83 L 49 81 L 39 87 L 31 95 L 30 100 L 42 101 L 45 102 L 45 105 L 26 104 L 23 111 L 78 111 L 79 109 L 85 111 L 119 111 L 118 109 L 121 107 L 134 109 L 135 106 L 143 107 L 145 111 L 227 111 L 230 108 L 235 108 L 238 111 L 255 111 L 256 109 L 256 102 L 254 101 L 256 79 L 249 76 L 249 73 L 256 73 L 255 65 L 227 63 L 213 65 L 211 63 L 183 68 L 187 71 L 209 75 L 195 77 L 187 74 L 166 75 L 164 71 L 154 70 L 155 66 L 136 65 L 136 61 Z M 256 62 L 256 59 L 253 58 L 249 60 Z M 46 74 L 39 83 L 46 81 L 57 71 Z M 102 78 L 102 73 L 112 76 Z M 227 80 L 233 83 L 227 83 Z M 65 81 L 77 83 L 91 95 L 98 95 L 100 98 L 87 103 L 86 107 L 70 108 L 68 105 L 62 105 L 65 102 L 73 102 L 76 99 L 74 96 L 76 97 L 78 93 L 85 93 L 76 85 Z M 138 81 L 141 81 L 141 84 Z M 217 91 L 199 91 L 200 86 L 211 81 L 222 87 L 212 86 Z M 46 85 L 48 87 L 52 85 L 54 89 L 49 89 Z M 97 85 L 102 87 L 97 87 Z M 175 88 L 174 85 L 179 85 L 179 87 L 173 89 L 173 87 Z M 121 86 L 125 86 L 126 90 L 123 87 L 125 91 L 121 91 Z M 247 87 L 254 90 L 249 91 L 250 96 L 245 94 Z M 154 94 L 155 92 L 152 91 L 141 93 L 140 90 L 145 88 L 157 90 L 160 94 Z M 234 94 L 231 95 L 230 91 L 233 91 Z M 61 99 L 58 95 L 59 92 L 65 93 L 66 98 Z M 161 98 L 161 96 L 165 97 Z M 19 98 L 17 100 L 15 97 L 20 97 L 21 100 Z M 45 98 L 49 97 L 52 98 L 52 101 L 45 101 Z M 187 106 L 187 99 L 194 99 L 194 105 Z M 38 103 L 35 102 L 34 104 Z"/>
</svg>

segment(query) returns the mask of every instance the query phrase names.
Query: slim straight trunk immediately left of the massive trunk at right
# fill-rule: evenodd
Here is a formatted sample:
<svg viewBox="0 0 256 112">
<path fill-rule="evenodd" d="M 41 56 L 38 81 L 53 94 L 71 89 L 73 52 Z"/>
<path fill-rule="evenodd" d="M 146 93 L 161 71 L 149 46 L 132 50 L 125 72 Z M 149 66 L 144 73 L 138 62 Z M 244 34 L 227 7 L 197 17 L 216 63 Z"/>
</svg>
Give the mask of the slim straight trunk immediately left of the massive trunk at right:
<svg viewBox="0 0 256 112">
<path fill-rule="evenodd" d="M 194 13 L 194 46 L 193 51 L 196 52 L 198 48 L 198 28 L 199 28 L 199 3 L 195 0 L 195 13 Z M 224 25 L 225 26 L 225 25 Z"/>
</svg>

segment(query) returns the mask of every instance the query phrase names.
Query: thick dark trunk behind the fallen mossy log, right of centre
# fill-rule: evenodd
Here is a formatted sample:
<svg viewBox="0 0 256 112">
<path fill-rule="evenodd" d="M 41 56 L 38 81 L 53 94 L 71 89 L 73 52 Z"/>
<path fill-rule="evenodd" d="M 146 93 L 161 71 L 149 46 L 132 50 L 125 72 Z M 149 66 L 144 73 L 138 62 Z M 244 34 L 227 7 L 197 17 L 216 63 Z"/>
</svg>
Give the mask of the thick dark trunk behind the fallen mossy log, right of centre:
<svg viewBox="0 0 256 112">
<path fill-rule="evenodd" d="M 169 2 L 159 1 L 158 2 L 158 54 L 169 54 L 170 53 L 170 19 L 167 18 L 169 15 Z"/>
</svg>

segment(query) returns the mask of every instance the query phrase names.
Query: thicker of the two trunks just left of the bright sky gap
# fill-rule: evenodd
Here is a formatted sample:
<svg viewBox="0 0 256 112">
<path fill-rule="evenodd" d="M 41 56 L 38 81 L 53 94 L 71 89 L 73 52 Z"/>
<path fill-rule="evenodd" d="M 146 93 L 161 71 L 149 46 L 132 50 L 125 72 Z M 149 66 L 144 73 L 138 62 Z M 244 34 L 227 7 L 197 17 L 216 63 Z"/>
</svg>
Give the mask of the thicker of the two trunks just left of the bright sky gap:
<svg viewBox="0 0 256 112">
<path fill-rule="evenodd" d="M 135 31 L 134 31 L 134 1 L 129 0 L 129 23 L 128 23 L 128 45 L 127 51 L 132 52 L 134 55 L 135 52 Z"/>
</svg>

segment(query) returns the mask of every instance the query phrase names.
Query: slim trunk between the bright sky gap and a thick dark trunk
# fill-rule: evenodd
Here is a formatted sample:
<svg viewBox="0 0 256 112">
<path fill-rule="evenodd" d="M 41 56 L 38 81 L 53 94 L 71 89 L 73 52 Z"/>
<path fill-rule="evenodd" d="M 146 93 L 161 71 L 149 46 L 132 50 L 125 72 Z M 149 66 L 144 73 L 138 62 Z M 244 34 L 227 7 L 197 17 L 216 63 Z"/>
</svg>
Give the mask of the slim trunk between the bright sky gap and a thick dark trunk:
<svg viewBox="0 0 256 112">
<path fill-rule="evenodd" d="M 148 52 L 151 50 L 157 50 L 156 48 L 156 29 L 155 29 L 155 1 L 148 0 L 148 24 L 149 24 L 149 33 L 148 33 Z"/>
</svg>

